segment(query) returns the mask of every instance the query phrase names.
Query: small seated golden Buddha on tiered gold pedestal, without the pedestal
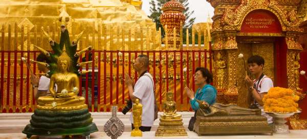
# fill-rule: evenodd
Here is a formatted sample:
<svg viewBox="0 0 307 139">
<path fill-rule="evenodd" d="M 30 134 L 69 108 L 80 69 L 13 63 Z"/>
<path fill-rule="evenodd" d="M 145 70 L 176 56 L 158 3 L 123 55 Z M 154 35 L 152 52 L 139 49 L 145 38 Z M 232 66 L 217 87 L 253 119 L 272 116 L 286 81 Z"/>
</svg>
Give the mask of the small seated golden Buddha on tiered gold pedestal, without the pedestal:
<svg viewBox="0 0 307 139">
<path fill-rule="evenodd" d="M 173 93 L 171 91 L 166 93 L 166 101 L 163 102 L 162 119 L 180 119 L 181 115 L 176 113 L 176 102 L 173 101 Z"/>
</svg>

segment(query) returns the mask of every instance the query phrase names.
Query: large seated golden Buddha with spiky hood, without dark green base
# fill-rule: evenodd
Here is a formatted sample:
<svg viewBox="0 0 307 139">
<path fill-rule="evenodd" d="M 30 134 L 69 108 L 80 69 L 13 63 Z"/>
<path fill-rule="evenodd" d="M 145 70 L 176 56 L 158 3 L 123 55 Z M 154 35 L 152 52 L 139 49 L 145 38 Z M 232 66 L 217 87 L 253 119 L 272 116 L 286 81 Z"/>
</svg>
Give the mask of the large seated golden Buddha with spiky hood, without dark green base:
<svg viewBox="0 0 307 139">
<path fill-rule="evenodd" d="M 69 34 L 65 26 L 61 26 L 61 29 L 61 38 L 68 38 L 69 40 Z M 49 37 L 45 31 L 43 32 Z M 50 67 L 51 72 L 49 74 L 51 76 L 49 91 L 52 96 L 39 97 L 37 108 L 41 110 L 78 110 L 86 108 L 87 106 L 84 104 L 85 99 L 77 96 L 79 92 L 79 77 L 76 74 L 76 70 L 74 70 L 78 68 L 75 58 L 76 44 L 71 45 L 69 41 L 58 44 L 52 39 L 50 41 L 53 42 L 55 52 L 55 54 L 49 54 L 49 58 L 53 61 L 50 63 L 52 66 Z M 39 50 L 42 49 L 40 48 Z M 58 87 L 57 91 L 54 90 L 55 84 Z"/>
</svg>

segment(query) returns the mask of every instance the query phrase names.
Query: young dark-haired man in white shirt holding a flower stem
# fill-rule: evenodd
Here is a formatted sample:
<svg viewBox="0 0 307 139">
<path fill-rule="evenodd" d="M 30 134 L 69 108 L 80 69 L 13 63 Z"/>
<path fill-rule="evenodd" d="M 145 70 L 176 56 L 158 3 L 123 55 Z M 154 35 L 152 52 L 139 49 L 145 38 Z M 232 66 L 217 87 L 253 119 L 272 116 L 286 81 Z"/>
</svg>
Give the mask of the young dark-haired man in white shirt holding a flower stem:
<svg viewBox="0 0 307 139">
<path fill-rule="evenodd" d="M 264 102 L 262 102 L 262 99 L 266 94 L 268 94 L 270 88 L 274 87 L 272 79 L 263 73 L 265 59 L 261 56 L 254 55 L 247 60 L 247 63 L 249 71 L 256 78 L 251 80 L 248 75 L 245 77 L 245 81 L 249 86 L 249 92 L 254 98 L 253 105 L 256 105 L 259 109 L 261 109 L 261 115 L 268 119 L 269 124 L 272 124 L 273 118 L 264 112 Z"/>
</svg>

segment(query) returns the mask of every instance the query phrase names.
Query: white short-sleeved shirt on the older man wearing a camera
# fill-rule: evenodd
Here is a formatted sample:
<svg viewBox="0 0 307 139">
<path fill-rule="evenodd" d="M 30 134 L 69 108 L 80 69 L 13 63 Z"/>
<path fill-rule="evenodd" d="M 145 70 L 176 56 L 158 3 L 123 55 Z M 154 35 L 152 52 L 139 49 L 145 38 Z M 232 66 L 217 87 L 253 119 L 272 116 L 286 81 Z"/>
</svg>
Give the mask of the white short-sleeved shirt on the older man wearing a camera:
<svg viewBox="0 0 307 139">
<path fill-rule="evenodd" d="M 146 75 L 152 76 L 149 73 Z M 140 99 L 143 105 L 142 126 L 151 127 L 153 125 L 153 114 L 155 113 L 155 96 L 153 95 L 153 84 L 151 79 L 146 75 L 141 76 L 134 86 L 133 95 Z M 132 113 L 130 121 L 133 123 Z"/>
</svg>

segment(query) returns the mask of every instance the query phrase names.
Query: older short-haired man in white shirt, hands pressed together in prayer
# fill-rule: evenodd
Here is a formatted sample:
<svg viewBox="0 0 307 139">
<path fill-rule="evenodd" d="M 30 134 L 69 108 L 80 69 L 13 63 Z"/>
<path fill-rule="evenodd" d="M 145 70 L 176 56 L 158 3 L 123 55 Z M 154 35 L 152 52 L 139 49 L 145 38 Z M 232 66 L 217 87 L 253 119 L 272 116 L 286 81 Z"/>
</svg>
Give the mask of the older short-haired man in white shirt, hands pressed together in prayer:
<svg viewBox="0 0 307 139">
<path fill-rule="evenodd" d="M 143 132 L 150 131 L 155 113 L 155 96 L 153 94 L 152 76 L 147 71 L 148 65 L 148 56 L 139 55 L 133 65 L 139 75 L 136 84 L 134 84 L 133 80 L 127 74 L 125 75 L 125 83 L 128 87 L 131 101 L 134 103 L 136 99 L 139 99 L 143 105 L 142 126 L 139 127 Z M 134 129 L 132 115 L 130 121 L 132 129 Z"/>
</svg>

